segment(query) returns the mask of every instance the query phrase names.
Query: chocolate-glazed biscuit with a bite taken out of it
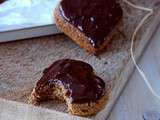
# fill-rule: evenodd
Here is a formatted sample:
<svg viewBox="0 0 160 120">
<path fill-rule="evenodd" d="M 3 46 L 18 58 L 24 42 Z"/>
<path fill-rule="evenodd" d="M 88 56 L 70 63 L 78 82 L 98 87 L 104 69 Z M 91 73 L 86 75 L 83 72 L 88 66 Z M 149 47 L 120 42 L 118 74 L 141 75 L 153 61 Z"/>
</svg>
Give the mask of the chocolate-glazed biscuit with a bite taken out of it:
<svg viewBox="0 0 160 120">
<path fill-rule="evenodd" d="M 29 103 L 55 99 L 66 102 L 70 114 L 90 116 L 104 108 L 108 95 L 104 81 L 94 74 L 89 64 L 62 59 L 44 70 Z"/>
</svg>

